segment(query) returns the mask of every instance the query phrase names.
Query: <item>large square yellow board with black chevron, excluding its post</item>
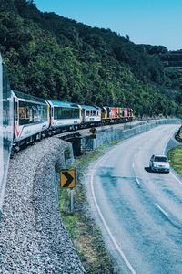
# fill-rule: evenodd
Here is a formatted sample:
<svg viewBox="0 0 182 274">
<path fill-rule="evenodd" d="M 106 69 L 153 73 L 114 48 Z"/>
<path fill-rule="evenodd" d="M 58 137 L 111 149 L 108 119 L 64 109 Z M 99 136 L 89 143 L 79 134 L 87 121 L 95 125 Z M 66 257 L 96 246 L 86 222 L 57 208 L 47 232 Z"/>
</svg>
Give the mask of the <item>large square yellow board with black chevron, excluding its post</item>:
<svg viewBox="0 0 182 274">
<path fill-rule="evenodd" d="M 62 169 L 60 171 L 60 187 L 73 188 L 76 186 L 76 170 L 75 169 Z"/>
</svg>

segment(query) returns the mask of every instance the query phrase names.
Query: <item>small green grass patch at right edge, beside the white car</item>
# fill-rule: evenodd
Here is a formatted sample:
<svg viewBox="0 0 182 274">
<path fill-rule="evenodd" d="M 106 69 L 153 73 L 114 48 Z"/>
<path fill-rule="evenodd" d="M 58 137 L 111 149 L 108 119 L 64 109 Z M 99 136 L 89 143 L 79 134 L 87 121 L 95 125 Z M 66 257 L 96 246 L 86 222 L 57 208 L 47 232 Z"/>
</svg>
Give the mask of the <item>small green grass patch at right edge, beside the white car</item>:
<svg viewBox="0 0 182 274">
<path fill-rule="evenodd" d="M 179 174 L 182 174 L 182 145 L 178 145 L 168 152 L 168 159 L 172 168 Z"/>
</svg>

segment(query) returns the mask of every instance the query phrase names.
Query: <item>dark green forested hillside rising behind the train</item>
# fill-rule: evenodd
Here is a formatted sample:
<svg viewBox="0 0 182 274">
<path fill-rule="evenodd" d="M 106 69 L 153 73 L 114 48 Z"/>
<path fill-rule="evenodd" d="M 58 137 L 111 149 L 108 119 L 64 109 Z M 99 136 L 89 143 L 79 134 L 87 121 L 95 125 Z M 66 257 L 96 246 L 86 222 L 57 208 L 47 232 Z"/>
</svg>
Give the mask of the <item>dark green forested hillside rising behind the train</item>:
<svg viewBox="0 0 182 274">
<path fill-rule="evenodd" d="M 12 89 L 129 106 L 141 116 L 182 116 L 182 86 L 167 77 L 158 54 L 148 50 L 110 29 L 42 13 L 34 1 L 0 0 L 0 51 Z"/>
</svg>

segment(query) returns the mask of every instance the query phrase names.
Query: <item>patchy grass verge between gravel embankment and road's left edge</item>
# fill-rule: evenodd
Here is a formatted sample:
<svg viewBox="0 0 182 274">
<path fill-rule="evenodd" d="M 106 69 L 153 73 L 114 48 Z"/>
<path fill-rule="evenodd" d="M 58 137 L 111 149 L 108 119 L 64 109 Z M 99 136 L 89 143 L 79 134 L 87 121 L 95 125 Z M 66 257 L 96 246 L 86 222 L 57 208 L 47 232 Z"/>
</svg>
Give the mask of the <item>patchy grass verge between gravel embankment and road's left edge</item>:
<svg viewBox="0 0 182 274">
<path fill-rule="evenodd" d="M 86 153 L 86 155 L 76 158 L 77 183 L 74 189 L 74 214 L 70 214 L 69 189 L 60 190 L 61 215 L 76 252 L 88 274 L 116 273 L 114 261 L 108 254 L 101 232 L 89 212 L 83 175 L 86 173 L 89 163 L 98 159 L 118 142 L 120 141 L 104 145 L 92 153 Z"/>
</svg>

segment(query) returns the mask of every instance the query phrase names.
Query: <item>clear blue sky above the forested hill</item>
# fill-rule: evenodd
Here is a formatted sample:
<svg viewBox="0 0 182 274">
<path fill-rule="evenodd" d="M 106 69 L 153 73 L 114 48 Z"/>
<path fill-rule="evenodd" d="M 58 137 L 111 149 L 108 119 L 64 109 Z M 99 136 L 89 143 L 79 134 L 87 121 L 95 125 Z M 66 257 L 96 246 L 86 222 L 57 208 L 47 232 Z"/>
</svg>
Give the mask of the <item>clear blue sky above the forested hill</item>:
<svg viewBox="0 0 182 274">
<path fill-rule="evenodd" d="M 35 4 L 41 11 L 128 34 L 136 44 L 182 49 L 182 0 L 35 0 Z"/>
</svg>

